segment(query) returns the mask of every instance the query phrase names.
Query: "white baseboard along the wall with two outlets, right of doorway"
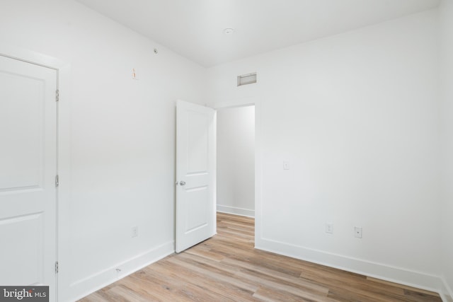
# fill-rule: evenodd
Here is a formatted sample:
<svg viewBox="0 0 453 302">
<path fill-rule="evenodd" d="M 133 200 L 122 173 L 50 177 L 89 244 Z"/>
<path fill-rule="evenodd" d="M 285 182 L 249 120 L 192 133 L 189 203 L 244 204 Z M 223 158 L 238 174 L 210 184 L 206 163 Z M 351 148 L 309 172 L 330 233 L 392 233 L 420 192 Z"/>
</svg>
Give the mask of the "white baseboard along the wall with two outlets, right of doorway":
<svg viewBox="0 0 453 302">
<path fill-rule="evenodd" d="M 345 271 L 362 274 L 367 277 L 382 279 L 406 286 L 413 286 L 427 291 L 435 291 L 441 294 L 441 296 L 442 289 L 447 286 L 445 281 L 442 281 L 440 276 L 425 274 L 423 272 L 415 272 L 401 267 L 382 265 L 375 262 L 369 262 L 367 260 L 345 257 L 343 255 L 336 255 L 330 252 L 323 252 L 321 250 L 314 250 L 289 243 L 282 243 L 276 240 L 260 238 L 255 241 L 255 248 L 268 252 L 275 252 L 280 255 L 300 260 L 314 262 L 319 265 L 343 269 Z"/>
</svg>

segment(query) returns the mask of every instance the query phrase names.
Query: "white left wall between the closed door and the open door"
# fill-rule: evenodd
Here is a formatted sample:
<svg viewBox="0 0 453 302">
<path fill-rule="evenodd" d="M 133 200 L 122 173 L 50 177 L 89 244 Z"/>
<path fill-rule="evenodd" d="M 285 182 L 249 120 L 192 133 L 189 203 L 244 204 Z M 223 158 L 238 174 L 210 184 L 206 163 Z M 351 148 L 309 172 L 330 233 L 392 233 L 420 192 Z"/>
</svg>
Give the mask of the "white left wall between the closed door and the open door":
<svg viewBox="0 0 453 302">
<path fill-rule="evenodd" d="M 0 28 L 2 43 L 69 66 L 59 104 L 61 301 L 173 252 L 175 104 L 205 103 L 205 69 L 75 1 L 2 0 Z"/>
</svg>

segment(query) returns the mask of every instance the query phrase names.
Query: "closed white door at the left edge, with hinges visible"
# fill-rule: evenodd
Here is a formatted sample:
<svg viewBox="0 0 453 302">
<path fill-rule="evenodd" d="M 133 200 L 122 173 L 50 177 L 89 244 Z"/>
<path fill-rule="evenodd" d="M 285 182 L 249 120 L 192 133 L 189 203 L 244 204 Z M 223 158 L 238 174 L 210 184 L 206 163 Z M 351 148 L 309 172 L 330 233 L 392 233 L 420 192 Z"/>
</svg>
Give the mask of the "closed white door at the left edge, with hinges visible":
<svg viewBox="0 0 453 302">
<path fill-rule="evenodd" d="M 57 258 L 57 71 L 0 55 L 0 284 L 50 286 Z"/>
</svg>

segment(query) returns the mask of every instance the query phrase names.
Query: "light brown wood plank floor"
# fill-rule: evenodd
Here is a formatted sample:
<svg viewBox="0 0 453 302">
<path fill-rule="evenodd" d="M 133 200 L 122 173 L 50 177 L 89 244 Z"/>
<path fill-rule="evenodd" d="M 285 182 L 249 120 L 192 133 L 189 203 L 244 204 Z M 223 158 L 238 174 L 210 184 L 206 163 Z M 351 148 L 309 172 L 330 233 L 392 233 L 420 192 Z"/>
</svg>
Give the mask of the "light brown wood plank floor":
<svg viewBox="0 0 453 302">
<path fill-rule="evenodd" d="M 217 235 L 81 302 L 441 301 L 428 291 L 253 249 L 251 218 L 217 214 Z"/>
</svg>

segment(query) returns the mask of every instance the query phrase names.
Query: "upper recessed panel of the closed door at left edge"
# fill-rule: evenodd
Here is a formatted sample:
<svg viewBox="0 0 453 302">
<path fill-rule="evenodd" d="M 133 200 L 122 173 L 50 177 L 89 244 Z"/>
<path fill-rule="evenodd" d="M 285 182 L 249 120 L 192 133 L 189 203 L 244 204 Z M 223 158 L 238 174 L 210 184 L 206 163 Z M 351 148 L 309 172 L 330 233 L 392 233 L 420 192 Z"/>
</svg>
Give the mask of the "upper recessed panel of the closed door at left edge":
<svg viewBox="0 0 453 302">
<path fill-rule="evenodd" d="M 42 110 L 45 105 L 40 79 L 0 73 L 1 132 L 0 190 L 23 190 L 42 185 Z"/>
</svg>

